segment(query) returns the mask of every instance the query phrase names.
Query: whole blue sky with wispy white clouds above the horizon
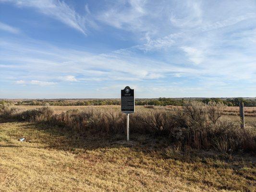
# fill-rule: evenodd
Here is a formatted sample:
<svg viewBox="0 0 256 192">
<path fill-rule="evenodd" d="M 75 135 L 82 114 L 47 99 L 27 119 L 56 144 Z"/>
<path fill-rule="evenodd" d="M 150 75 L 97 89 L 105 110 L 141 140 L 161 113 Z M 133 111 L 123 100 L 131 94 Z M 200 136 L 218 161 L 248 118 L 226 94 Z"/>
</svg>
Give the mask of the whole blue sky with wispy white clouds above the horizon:
<svg viewBox="0 0 256 192">
<path fill-rule="evenodd" d="M 256 0 L 0 0 L 0 98 L 255 97 Z"/>
</svg>

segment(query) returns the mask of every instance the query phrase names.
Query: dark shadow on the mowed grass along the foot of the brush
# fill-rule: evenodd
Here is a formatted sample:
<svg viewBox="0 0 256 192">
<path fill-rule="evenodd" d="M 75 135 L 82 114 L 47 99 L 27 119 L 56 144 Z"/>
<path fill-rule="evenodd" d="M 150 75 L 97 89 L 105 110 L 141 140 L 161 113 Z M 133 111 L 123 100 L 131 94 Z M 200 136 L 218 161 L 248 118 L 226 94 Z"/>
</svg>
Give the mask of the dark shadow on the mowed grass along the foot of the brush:
<svg viewBox="0 0 256 192">
<path fill-rule="evenodd" d="M 0 120 L 0 123 L 13 122 L 15 120 Z M 173 143 L 166 137 L 152 136 L 146 134 L 130 133 L 130 141 L 126 141 L 126 134 L 112 134 L 103 132 L 85 132 L 83 135 L 70 131 L 69 128 L 52 126 L 47 123 L 26 122 L 19 125 L 22 129 L 37 130 L 40 133 L 28 136 L 26 142 L 43 143 L 47 148 L 54 148 L 63 151 L 76 150 L 96 150 L 127 147 L 134 152 L 140 152 L 146 155 L 160 154 L 159 158 L 170 158 L 166 156 L 166 149 L 172 147 Z M 10 146 L 11 147 L 11 146 Z M 15 147 L 13 145 L 13 147 Z M 235 156 L 235 158 L 234 158 Z M 243 158 L 251 158 L 250 154 L 223 154 L 215 151 L 204 151 L 190 149 L 179 151 L 177 156 L 173 157 L 180 161 L 193 161 L 197 157 L 201 159 L 213 158 L 221 159 L 226 162 L 234 160 L 243 160 Z M 255 158 L 253 158 L 255 162 Z"/>
</svg>

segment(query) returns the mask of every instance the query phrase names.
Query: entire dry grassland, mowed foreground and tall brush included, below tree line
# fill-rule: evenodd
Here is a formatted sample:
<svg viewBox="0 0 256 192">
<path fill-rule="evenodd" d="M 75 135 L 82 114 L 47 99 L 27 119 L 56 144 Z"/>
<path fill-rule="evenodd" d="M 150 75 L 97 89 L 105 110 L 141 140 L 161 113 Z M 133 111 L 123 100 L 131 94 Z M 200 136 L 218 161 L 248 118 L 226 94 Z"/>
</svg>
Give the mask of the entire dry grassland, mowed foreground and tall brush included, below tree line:
<svg viewBox="0 0 256 192">
<path fill-rule="evenodd" d="M 136 107 L 127 142 L 120 106 L 3 107 L 0 191 L 254 192 L 255 117 L 241 132 L 225 109 L 216 121 L 210 106 L 189 109 L 196 122 L 180 110 Z"/>
</svg>

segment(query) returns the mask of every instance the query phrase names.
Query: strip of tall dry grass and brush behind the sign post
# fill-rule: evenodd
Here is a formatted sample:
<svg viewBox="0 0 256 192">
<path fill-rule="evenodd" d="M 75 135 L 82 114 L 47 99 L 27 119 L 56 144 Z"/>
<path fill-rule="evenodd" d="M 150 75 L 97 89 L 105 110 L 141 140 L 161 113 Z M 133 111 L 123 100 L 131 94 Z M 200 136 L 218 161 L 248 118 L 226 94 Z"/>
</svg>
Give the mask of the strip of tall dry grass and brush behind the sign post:
<svg viewBox="0 0 256 192">
<path fill-rule="evenodd" d="M 221 120 L 225 106 L 215 102 L 208 105 L 187 101 L 183 108 L 138 108 L 130 115 L 130 131 L 169 138 L 170 144 L 182 148 L 233 152 L 255 152 L 256 133 L 241 129 L 239 125 Z M 77 136 L 91 133 L 125 133 L 125 114 L 119 109 L 85 108 L 54 114 L 50 107 L 18 111 L 12 106 L 1 105 L 0 117 L 26 120 L 59 126 Z"/>
</svg>

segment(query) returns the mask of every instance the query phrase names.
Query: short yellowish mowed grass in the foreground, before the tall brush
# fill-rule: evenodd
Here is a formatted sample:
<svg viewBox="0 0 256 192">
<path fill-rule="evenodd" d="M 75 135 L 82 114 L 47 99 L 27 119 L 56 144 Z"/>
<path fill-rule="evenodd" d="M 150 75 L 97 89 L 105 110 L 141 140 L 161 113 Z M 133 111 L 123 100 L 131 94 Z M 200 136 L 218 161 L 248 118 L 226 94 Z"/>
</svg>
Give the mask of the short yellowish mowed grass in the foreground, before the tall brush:
<svg viewBox="0 0 256 192">
<path fill-rule="evenodd" d="M 125 135 L 70 135 L 28 122 L 0 123 L 0 191 L 255 191 L 253 155 L 181 152 L 146 135 L 132 134 L 128 143 Z"/>
</svg>

